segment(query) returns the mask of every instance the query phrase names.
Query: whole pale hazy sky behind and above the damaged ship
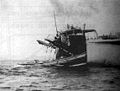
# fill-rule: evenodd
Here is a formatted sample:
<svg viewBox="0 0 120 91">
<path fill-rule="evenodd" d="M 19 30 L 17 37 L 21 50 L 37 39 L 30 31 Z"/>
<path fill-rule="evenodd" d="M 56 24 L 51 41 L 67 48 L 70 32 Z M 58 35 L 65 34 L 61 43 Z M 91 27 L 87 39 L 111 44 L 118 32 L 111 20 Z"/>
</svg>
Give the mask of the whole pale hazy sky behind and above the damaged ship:
<svg viewBox="0 0 120 91">
<path fill-rule="evenodd" d="M 46 56 L 36 40 L 66 24 L 94 28 L 98 34 L 119 32 L 119 0 L 0 0 L 0 60 L 28 60 Z"/>
</svg>

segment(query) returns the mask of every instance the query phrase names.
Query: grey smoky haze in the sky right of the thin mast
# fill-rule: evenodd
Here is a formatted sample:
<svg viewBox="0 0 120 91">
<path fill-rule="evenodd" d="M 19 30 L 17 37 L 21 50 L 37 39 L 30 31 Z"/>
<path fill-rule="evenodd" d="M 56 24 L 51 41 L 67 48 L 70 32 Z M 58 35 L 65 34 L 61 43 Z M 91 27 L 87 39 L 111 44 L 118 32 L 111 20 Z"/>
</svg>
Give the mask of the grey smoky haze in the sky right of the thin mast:
<svg viewBox="0 0 120 91">
<path fill-rule="evenodd" d="M 80 25 L 87 23 L 98 33 L 118 32 L 120 24 L 119 0 L 50 0 L 58 22 Z"/>
</svg>

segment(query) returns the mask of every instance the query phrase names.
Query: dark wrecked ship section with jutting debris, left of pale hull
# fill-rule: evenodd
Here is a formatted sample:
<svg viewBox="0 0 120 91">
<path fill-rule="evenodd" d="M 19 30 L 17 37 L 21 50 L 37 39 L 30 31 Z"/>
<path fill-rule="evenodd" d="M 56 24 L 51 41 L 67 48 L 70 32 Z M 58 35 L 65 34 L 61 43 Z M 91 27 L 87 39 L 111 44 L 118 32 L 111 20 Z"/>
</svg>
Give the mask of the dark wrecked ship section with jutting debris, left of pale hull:
<svg viewBox="0 0 120 91">
<path fill-rule="evenodd" d="M 87 63 L 87 49 L 85 33 L 95 32 L 94 29 L 75 28 L 67 25 L 67 30 L 64 32 L 57 31 L 54 40 L 45 39 L 44 42 L 37 40 L 39 44 L 55 49 L 56 59 L 49 65 L 74 67 L 85 65 Z"/>
</svg>

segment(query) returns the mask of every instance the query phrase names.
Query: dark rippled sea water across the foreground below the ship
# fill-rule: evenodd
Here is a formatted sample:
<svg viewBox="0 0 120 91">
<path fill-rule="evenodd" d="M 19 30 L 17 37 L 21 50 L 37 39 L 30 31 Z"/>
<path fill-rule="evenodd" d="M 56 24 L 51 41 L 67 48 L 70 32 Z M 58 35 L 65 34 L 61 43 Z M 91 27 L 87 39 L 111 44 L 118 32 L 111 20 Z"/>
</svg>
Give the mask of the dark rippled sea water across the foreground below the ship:
<svg viewBox="0 0 120 91">
<path fill-rule="evenodd" d="M 112 67 L 65 69 L 32 65 L 0 70 L 4 72 L 0 75 L 0 91 L 120 89 L 120 70 Z"/>
</svg>

